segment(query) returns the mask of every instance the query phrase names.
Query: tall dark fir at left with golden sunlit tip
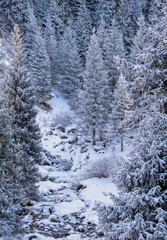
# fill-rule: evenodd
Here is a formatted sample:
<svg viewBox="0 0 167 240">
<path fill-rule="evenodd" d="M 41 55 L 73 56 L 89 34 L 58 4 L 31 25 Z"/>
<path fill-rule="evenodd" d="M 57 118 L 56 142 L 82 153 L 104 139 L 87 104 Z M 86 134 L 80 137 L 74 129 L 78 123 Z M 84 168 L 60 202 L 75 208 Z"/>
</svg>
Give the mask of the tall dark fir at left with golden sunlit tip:
<svg viewBox="0 0 167 240">
<path fill-rule="evenodd" d="M 41 135 L 36 124 L 34 90 L 26 67 L 23 42 L 18 25 L 14 26 L 11 39 L 10 65 L 6 69 L 6 98 L 12 127 L 13 164 L 17 183 L 27 199 L 38 195 L 37 164 L 41 162 Z"/>
</svg>

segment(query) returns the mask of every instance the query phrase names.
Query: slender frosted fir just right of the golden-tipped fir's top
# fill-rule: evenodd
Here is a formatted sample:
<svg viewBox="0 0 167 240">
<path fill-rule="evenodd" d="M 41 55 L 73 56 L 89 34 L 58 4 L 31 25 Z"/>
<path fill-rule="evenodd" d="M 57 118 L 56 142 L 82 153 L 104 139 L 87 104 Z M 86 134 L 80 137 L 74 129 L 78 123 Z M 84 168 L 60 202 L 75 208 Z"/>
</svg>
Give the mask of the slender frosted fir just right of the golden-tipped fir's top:
<svg viewBox="0 0 167 240">
<path fill-rule="evenodd" d="M 35 95 L 37 101 L 41 101 L 47 98 L 51 92 L 50 61 L 46 51 L 45 40 L 31 8 L 29 9 L 28 23 L 26 25 L 25 46 Z"/>
</svg>

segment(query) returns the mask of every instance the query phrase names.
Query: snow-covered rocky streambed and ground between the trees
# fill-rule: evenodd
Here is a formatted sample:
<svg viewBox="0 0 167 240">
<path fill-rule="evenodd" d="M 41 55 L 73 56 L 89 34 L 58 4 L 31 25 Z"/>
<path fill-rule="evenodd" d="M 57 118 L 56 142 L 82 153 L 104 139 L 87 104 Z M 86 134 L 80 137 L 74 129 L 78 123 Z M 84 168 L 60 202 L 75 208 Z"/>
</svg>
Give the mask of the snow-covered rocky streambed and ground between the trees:
<svg viewBox="0 0 167 240">
<path fill-rule="evenodd" d="M 112 176 L 88 175 L 90 162 L 111 158 L 120 159 L 128 151 L 120 152 L 115 143 L 107 150 L 92 147 L 76 136 L 75 114 L 58 93 L 50 100 L 52 109 L 38 109 L 44 160 L 39 166 L 41 199 L 32 202 L 25 218 L 27 234 L 24 240 L 90 240 L 103 239 L 98 229 L 96 203 L 111 204 L 110 193 L 117 195 Z M 112 172 L 112 169 L 111 169 Z"/>
</svg>

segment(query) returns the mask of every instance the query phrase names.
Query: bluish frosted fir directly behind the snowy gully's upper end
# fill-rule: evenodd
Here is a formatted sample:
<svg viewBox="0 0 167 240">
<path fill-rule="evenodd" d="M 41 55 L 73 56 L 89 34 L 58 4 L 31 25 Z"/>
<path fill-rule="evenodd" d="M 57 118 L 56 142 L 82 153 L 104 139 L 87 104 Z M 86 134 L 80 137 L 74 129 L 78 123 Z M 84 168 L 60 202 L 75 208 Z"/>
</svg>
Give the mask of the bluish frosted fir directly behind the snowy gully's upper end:
<svg viewBox="0 0 167 240">
<path fill-rule="evenodd" d="M 67 26 L 63 37 L 58 43 L 57 82 L 63 95 L 73 105 L 76 101 L 77 91 L 82 87 L 83 67 L 78 54 L 75 32 Z"/>
</svg>

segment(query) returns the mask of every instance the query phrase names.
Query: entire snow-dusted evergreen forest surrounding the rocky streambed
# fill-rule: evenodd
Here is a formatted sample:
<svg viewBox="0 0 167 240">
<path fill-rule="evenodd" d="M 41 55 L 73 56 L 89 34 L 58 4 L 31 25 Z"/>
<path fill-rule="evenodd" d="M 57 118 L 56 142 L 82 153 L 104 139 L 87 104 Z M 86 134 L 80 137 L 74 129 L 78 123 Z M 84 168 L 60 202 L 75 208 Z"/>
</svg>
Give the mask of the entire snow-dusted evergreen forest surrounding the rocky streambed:
<svg viewBox="0 0 167 240">
<path fill-rule="evenodd" d="M 121 195 L 99 206 L 106 239 L 167 239 L 166 0 L 0 1 L 0 234 L 24 232 L 40 198 L 36 109 L 62 93 L 78 136 L 95 145 L 133 133 L 115 176 Z"/>
</svg>

